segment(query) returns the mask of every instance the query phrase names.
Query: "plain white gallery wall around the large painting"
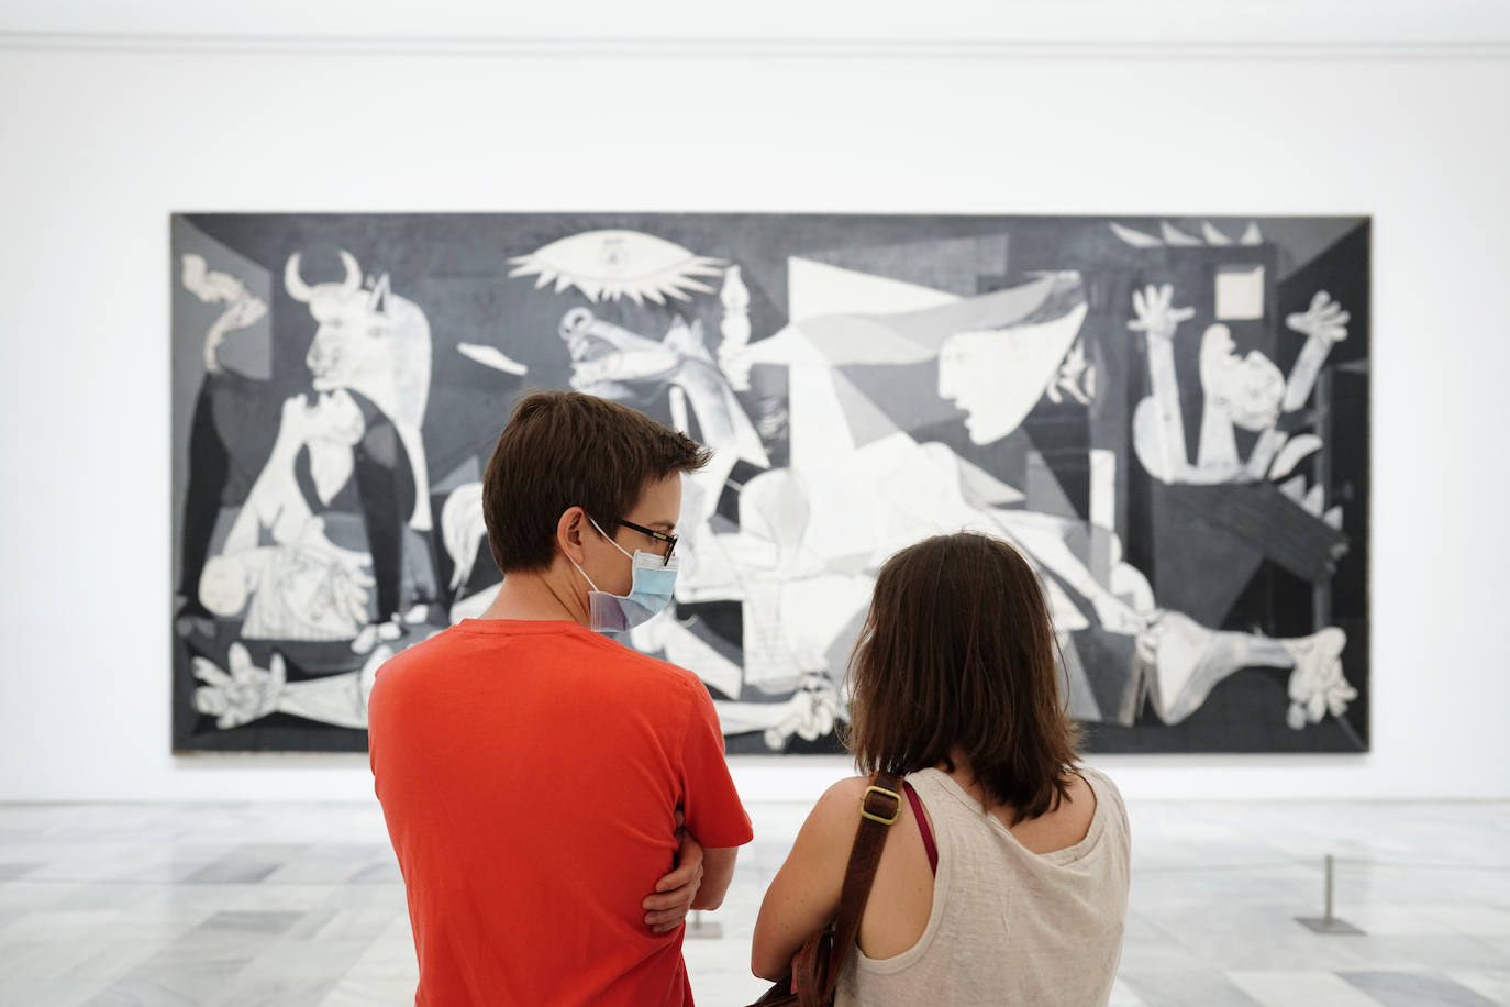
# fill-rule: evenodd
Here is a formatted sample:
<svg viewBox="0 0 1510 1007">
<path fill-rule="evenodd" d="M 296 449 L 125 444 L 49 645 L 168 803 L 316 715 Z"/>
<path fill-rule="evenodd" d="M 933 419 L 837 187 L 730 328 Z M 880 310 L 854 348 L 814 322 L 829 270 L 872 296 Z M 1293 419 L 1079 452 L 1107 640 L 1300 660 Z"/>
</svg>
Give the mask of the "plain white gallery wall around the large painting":
<svg viewBox="0 0 1510 1007">
<path fill-rule="evenodd" d="M 371 793 L 169 753 L 175 210 L 1373 214 L 1373 752 L 1096 762 L 1510 797 L 1505 5 L 302 6 L 0 9 L 0 800 Z"/>
</svg>

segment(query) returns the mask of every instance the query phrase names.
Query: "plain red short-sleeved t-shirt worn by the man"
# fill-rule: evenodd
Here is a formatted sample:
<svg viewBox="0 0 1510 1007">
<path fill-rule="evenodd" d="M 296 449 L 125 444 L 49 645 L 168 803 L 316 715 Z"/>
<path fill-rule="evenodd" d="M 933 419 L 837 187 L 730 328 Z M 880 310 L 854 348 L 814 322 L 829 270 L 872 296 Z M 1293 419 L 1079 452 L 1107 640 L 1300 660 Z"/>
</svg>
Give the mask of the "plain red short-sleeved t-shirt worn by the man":
<svg viewBox="0 0 1510 1007">
<path fill-rule="evenodd" d="M 672 814 L 752 838 L 696 675 L 575 622 L 468 619 L 379 669 L 368 725 L 415 1004 L 692 1004 L 683 930 L 640 907 Z"/>
</svg>

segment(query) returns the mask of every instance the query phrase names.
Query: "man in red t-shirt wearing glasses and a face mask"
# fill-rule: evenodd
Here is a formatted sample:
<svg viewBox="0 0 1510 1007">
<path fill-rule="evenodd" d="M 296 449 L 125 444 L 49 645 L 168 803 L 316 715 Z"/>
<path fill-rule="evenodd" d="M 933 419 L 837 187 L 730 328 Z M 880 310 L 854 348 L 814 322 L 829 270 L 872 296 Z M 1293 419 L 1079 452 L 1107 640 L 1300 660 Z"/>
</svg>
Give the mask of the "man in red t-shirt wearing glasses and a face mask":
<svg viewBox="0 0 1510 1007">
<path fill-rule="evenodd" d="M 403 651 L 371 767 L 420 960 L 415 1004 L 690 1004 L 689 909 L 752 838 L 696 675 L 599 636 L 670 599 L 681 474 L 625 406 L 539 393 L 483 477 L 492 607 Z"/>
</svg>

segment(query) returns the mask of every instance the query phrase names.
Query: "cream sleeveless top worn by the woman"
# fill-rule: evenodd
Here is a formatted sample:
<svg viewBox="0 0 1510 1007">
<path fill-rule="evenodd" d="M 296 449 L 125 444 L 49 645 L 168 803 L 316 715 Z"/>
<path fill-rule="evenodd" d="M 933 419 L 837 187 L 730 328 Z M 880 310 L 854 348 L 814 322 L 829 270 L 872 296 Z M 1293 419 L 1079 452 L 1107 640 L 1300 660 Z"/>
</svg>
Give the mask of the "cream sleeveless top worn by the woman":
<svg viewBox="0 0 1510 1007">
<path fill-rule="evenodd" d="M 835 1007 L 1105 1004 L 1122 956 L 1131 839 L 1116 785 L 1096 770 L 1081 774 L 1096 794 L 1090 829 L 1045 855 L 1028 851 L 947 773 L 909 776 L 933 820 L 933 910 L 918 942 L 895 957 L 855 948 Z"/>
</svg>

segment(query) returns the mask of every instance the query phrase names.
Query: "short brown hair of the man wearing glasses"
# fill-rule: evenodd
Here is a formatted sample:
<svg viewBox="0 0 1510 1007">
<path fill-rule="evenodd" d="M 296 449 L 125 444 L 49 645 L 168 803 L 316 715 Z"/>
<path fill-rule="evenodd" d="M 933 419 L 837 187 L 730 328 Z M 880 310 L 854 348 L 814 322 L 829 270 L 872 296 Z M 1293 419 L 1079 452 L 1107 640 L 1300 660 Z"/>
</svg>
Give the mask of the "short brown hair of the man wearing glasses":
<svg viewBox="0 0 1510 1007">
<path fill-rule="evenodd" d="M 542 571 L 556 528 L 580 506 L 607 534 L 645 485 L 695 473 L 710 451 L 643 412 L 575 391 L 538 391 L 513 409 L 482 480 L 492 559 L 504 574 Z"/>
</svg>

